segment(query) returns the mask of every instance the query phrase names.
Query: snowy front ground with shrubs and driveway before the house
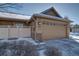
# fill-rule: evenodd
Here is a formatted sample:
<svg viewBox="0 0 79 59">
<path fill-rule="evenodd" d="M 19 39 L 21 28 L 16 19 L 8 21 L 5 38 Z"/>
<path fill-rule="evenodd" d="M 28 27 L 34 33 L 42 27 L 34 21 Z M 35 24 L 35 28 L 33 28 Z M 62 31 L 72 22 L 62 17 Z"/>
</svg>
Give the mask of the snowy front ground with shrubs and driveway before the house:
<svg viewBox="0 0 79 59">
<path fill-rule="evenodd" d="M 70 39 L 55 39 L 44 42 L 32 38 L 0 40 L 0 55 L 79 56 L 79 37 L 77 36 L 78 34 L 71 33 Z"/>
</svg>

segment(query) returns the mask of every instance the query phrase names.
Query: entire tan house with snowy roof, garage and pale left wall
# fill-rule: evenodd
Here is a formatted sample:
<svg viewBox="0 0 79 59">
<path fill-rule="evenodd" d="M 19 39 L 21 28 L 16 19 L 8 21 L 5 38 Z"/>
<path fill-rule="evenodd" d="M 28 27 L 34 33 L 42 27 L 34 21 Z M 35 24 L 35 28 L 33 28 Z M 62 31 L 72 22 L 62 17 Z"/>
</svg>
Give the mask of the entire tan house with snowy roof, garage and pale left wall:
<svg viewBox="0 0 79 59">
<path fill-rule="evenodd" d="M 32 37 L 37 40 L 67 38 L 69 26 L 70 20 L 62 18 L 53 7 L 34 14 L 31 18 L 0 12 L 1 38 Z"/>
</svg>

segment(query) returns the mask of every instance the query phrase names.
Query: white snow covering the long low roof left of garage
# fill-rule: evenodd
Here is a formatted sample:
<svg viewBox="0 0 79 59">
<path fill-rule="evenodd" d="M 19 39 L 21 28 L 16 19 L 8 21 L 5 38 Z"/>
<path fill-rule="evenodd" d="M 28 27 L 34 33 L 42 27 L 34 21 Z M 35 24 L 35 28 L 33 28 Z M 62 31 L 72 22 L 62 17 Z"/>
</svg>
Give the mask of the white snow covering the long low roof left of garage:
<svg viewBox="0 0 79 59">
<path fill-rule="evenodd" d="M 22 20 L 29 20 L 31 18 L 31 16 L 25 16 L 25 15 L 14 14 L 14 13 L 5 13 L 5 12 L 0 12 L 0 17 L 11 18 L 11 19 L 22 19 Z"/>
</svg>

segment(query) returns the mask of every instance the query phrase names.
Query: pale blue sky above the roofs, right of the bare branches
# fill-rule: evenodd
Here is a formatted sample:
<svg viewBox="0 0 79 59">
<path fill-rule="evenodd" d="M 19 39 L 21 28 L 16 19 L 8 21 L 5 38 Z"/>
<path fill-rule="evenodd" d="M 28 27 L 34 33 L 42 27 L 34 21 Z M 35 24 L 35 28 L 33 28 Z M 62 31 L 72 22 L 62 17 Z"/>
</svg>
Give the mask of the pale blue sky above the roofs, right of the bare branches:
<svg viewBox="0 0 79 59">
<path fill-rule="evenodd" d="M 8 8 L 10 12 L 31 16 L 40 13 L 50 7 L 54 7 L 62 17 L 68 17 L 74 24 L 79 24 L 79 4 L 77 3 L 26 3 L 19 4 L 15 8 Z"/>
</svg>

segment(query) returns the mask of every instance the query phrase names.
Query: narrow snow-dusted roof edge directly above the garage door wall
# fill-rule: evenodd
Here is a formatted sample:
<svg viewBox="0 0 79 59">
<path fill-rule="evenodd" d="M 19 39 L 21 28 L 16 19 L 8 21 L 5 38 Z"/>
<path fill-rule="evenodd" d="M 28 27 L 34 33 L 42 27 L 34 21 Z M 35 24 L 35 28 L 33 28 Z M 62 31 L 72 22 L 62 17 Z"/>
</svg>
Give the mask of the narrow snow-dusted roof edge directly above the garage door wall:
<svg viewBox="0 0 79 59">
<path fill-rule="evenodd" d="M 44 17 L 44 18 L 50 18 L 50 19 L 57 19 L 57 20 L 61 20 L 61 21 L 70 22 L 70 20 L 68 20 L 68 19 L 59 18 L 59 17 L 51 16 L 51 15 L 46 15 L 46 14 L 42 14 L 42 13 L 40 13 L 40 14 L 34 14 L 33 16 Z"/>
</svg>

